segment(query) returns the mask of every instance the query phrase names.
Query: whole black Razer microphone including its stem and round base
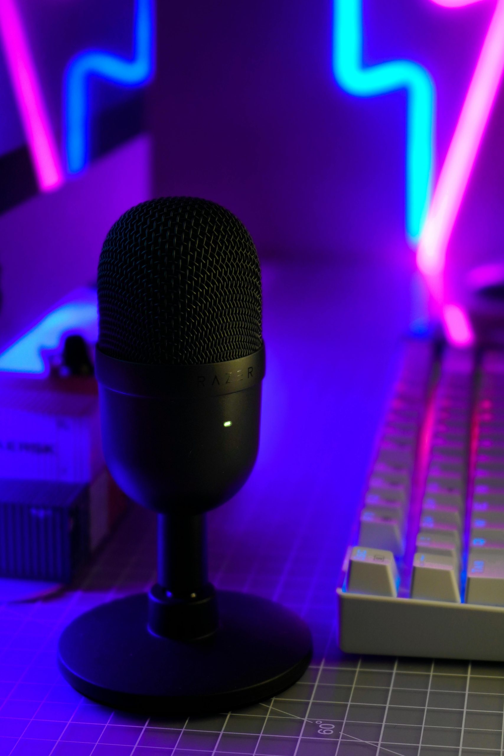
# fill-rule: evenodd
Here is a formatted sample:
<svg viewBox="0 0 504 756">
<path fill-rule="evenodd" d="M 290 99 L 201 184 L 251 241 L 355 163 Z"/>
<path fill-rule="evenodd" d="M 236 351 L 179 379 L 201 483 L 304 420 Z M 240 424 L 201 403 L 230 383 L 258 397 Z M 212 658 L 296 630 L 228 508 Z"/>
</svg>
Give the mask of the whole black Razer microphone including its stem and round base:
<svg viewBox="0 0 504 756">
<path fill-rule="evenodd" d="M 98 266 L 96 375 L 104 454 L 158 513 L 158 582 L 81 615 L 60 637 L 66 680 L 115 708 L 197 714 L 274 696 L 311 659 L 283 607 L 215 591 L 205 513 L 243 486 L 259 443 L 261 271 L 243 224 L 168 197 L 110 229 Z"/>
</svg>

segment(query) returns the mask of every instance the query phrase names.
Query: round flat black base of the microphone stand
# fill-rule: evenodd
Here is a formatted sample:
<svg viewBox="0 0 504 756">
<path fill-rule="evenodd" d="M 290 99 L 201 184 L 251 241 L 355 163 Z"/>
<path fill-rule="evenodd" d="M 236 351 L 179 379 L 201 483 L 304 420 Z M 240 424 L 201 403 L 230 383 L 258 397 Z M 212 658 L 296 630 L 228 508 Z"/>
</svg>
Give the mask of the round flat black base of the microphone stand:
<svg viewBox="0 0 504 756">
<path fill-rule="evenodd" d="M 147 594 L 97 606 L 61 634 L 63 677 L 90 699 L 165 716 L 229 711 L 295 683 L 311 660 L 304 621 L 279 604 L 218 591 L 219 628 L 184 643 L 147 630 Z"/>
</svg>

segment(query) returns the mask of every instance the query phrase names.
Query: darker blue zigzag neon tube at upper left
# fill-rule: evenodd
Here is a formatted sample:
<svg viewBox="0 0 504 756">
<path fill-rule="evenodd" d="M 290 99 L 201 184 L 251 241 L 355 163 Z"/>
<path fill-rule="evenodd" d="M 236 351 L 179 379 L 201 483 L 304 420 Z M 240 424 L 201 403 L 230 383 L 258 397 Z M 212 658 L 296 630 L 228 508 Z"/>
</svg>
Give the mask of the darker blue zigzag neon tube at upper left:
<svg viewBox="0 0 504 756">
<path fill-rule="evenodd" d="M 134 56 L 131 60 L 101 51 L 74 57 L 66 70 L 66 163 L 70 173 L 88 163 L 89 78 L 100 76 L 124 86 L 145 84 L 154 69 L 154 0 L 135 0 Z"/>
</svg>

